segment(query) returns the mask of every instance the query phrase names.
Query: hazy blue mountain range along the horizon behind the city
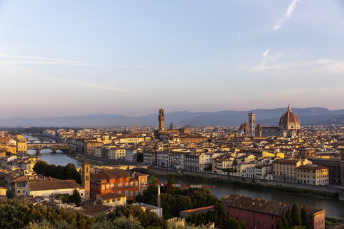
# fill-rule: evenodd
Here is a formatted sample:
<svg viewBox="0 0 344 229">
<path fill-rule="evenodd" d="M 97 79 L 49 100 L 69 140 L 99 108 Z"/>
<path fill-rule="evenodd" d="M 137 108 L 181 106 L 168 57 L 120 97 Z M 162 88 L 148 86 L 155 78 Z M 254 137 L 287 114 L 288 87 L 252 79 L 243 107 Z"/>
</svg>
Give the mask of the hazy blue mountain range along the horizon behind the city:
<svg viewBox="0 0 344 229">
<path fill-rule="evenodd" d="M 327 108 L 292 108 L 299 116 L 301 125 L 316 124 L 344 124 L 344 109 L 329 110 Z M 256 123 L 277 126 L 282 114 L 287 108 L 257 109 L 252 110 L 256 114 Z M 219 112 L 188 112 L 178 111 L 165 114 L 165 126 L 238 126 L 251 111 L 224 110 Z M 71 117 L 49 118 L 11 118 L 0 119 L 1 127 L 22 126 L 157 126 L 158 114 L 148 114 L 139 117 L 129 117 L 119 114 L 89 114 Z"/>
</svg>

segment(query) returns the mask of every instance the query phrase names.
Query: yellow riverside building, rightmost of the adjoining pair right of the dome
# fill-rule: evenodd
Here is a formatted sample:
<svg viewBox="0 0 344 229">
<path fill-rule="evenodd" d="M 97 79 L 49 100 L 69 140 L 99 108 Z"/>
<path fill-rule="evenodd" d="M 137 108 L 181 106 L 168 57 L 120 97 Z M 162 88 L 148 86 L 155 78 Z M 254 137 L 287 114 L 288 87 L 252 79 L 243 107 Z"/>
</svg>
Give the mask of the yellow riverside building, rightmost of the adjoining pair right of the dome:
<svg viewBox="0 0 344 229">
<path fill-rule="evenodd" d="M 302 184 L 329 184 L 329 169 L 318 165 L 300 165 L 296 168 L 297 182 Z"/>
</svg>

